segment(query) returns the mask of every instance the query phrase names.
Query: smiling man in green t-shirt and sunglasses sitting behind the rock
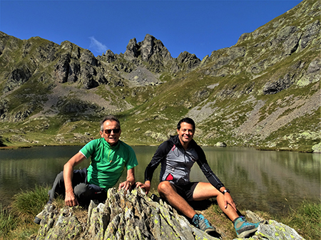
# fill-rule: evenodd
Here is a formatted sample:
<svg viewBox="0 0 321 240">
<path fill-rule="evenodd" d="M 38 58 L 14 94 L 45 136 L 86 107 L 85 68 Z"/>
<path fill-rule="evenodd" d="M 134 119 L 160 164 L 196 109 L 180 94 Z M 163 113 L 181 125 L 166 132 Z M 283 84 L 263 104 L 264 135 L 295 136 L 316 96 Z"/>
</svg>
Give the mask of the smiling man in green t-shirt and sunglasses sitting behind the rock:
<svg viewBox="0 0 321 240">
<path fill-rule="evenodd" d="M 76 155 L 71 157 L 63 166 L 54 185 L 49 190 L 49 202 L 57 194 L 65 197 L 69 207 L 88 206 L 91 199 L 104 202 L 107 190 L 113 187 L 127 169 L 125 182 L 119 184 L 118 189 L 131 189 L 135 183 L 134 167 L 138 165 L 133 148 L 119 140 L 121 124 L 115 116 L 108 116 L 101 121 L 101 138 L 88 142 Z M 91 164 L 87 169 L 73 170 L 83 160 L 91 157 Z M 41 213 L 34 222 L 40 224 Z"/>
</svg>

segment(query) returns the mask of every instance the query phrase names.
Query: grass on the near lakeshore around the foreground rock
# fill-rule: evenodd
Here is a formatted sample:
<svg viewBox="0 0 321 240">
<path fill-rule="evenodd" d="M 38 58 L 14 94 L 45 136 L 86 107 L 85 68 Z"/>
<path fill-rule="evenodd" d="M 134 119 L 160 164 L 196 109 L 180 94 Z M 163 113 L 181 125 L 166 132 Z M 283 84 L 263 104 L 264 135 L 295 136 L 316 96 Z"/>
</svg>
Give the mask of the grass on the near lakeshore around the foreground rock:
<svg viewBox="0 0 321 240">
<path fill-rule="evenodd" d="M 10 208 L 0 207 L 0 239 L 30 239 L 35 236 L 39 225 L 34 224 L 34 216 L 42 211 L 48 201 L 48 186 L 35 186 L 30 191 L 16 194 Z M 158 195 L 156 189 L 151 189 L 151 194 Z M 54 204 L 59 208 L 63 207 L 63 200 L 56 199 Z M 235 230 L 231 221 L 223 216 L 215 200 L 205 202 L 206 209 L 203 211 L 210 222 L 223 231 L 226 236 L 223 239 L 234 239 Z M 193 205 L 196 211 L 204 208 Z M 240 212 L 243 212 L 242 210 Z M 275 219 L 295 229 L 307 240 L 320 239 L 321 237 L 321 204 L 302 202 L 297 209 L 292 209 L 287 216 L 271 216 L 266 212 L 255 212 L 263 219 Z M 77 213 L 79 221 L 86 221 L 86 210 L 79 210 Z"/>
</svg>

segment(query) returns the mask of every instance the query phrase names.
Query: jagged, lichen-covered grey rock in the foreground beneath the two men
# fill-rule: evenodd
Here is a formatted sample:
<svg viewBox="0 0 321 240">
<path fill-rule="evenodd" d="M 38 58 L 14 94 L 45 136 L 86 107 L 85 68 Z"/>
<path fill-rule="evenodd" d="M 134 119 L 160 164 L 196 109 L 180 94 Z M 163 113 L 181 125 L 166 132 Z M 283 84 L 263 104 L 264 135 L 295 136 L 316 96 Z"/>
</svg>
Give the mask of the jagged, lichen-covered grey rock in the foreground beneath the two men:
<svg viewBox="0 0 321 240">
<path fill-rule="evenodd" d="M 153 195 L 154 196 L 154 195 Z M 57 209 L 47 204 L 44 218 L 34 239 L 220 239 L 195 228 L 170 205 L 155 197 L 151 199 L 141 189 L 132 192 L 115 188 L 108 190 L 105 204 L 91 202 L 86 221 L 77 218 L 77 209 Z M 251 217 L 255 214 L 250 212 Z M 260 221 L 261 219 L 255 219 Z M 219 231 L 219 230 L 218 230 Z M 294 229 L 270 220 L 260 224 L 250 239 L 302 239 Z"/>
</svg>

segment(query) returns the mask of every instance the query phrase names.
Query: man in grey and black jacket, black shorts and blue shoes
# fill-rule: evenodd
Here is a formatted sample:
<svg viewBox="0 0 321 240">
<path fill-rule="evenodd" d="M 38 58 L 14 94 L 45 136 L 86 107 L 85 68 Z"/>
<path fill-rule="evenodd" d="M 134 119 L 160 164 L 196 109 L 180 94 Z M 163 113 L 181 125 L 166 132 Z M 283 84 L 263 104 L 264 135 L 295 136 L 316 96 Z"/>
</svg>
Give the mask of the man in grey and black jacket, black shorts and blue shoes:
<svg viewBox="0 0 321 240">
<path fill-rule="evenodd" d="M 193 140 L 195 122 L 183 118 L 178 122 L 178 135 L 170 137 L 156 150 L 151 162 L 146 167 L 145 183 L 137 182 L 136 186 L 151 189 L 153 172 L 161 163 L 160 184 L 158 192 L 176 210 L 192 219 L 193 224 L 205 232 L 214 231 L 202 214 L 197 214 L 190 201 L 200 201 L 216 197 L 218 206 L 233 221 L 239 238 L 244 238 L 258 229 L 259 223 L 250 223 L 238 215 L 230 191 L 210 169 L 202 148 Z M 197 162 L 209 182 L 190 182 L 190 169 Z"/>
</svg>

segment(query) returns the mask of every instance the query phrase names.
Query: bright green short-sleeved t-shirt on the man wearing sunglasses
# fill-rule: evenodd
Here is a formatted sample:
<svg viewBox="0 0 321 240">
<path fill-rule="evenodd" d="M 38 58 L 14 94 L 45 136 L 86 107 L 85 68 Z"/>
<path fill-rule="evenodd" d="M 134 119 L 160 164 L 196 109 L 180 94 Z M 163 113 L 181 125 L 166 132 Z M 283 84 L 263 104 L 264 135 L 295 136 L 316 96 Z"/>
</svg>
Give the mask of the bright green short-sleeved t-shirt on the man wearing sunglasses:
<svg viewBox="0 0 321 240">
<path fill-rule="evenodd" d="M 118 140 L 111 147 L 102 137 L 88 142 L 80 152 L 86 157 L 91 156 L 91 165 L 87 169 L 87 181 L 105 189 L 113 187 L 123 173 L 138 165 L 135 152 L 131 146 Z"/>
</svg>

